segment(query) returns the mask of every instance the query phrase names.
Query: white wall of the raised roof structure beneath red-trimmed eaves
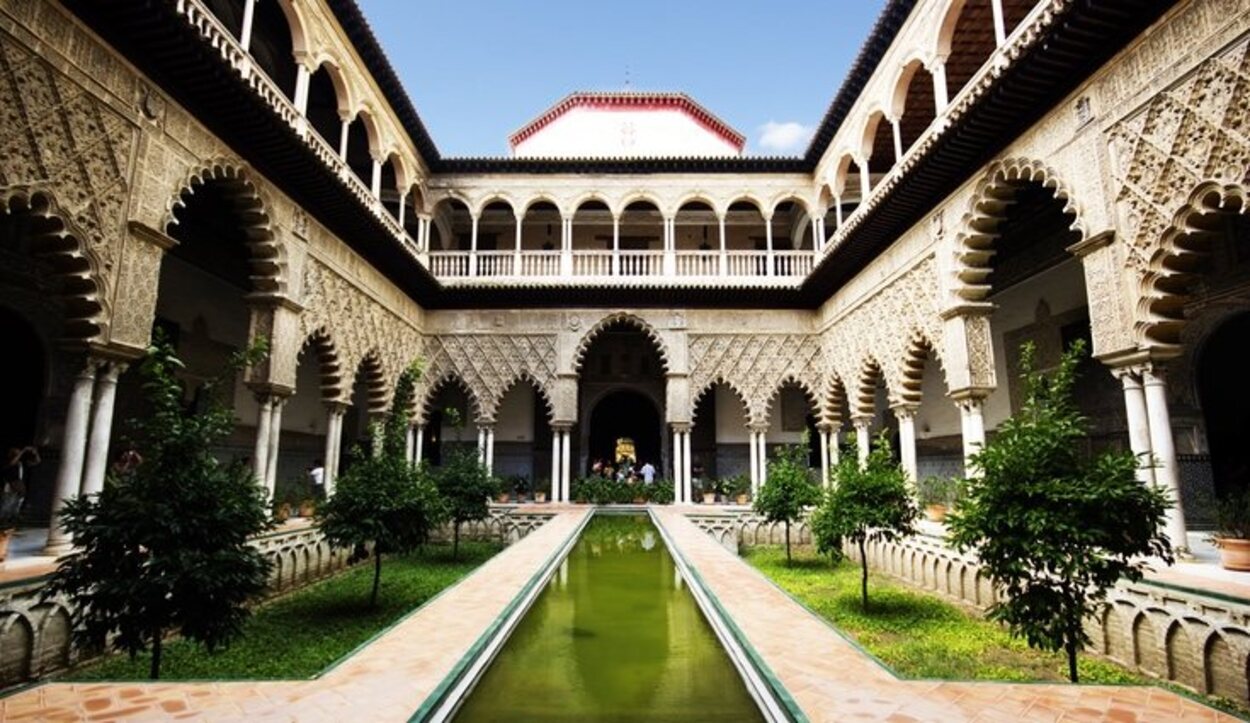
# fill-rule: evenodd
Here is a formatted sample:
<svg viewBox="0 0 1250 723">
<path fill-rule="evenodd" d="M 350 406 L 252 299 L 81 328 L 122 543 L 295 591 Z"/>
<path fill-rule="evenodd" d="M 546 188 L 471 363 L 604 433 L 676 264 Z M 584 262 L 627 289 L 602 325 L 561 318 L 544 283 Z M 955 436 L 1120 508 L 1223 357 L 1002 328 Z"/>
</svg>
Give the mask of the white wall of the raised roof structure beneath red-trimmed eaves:
<svg viewBox="0 0 1250 723">
<path fill-rule="evenodd" d="M 678 109 L 572 108 L 512 149 L 516 158 L 735 156 Z"/>
</svg>

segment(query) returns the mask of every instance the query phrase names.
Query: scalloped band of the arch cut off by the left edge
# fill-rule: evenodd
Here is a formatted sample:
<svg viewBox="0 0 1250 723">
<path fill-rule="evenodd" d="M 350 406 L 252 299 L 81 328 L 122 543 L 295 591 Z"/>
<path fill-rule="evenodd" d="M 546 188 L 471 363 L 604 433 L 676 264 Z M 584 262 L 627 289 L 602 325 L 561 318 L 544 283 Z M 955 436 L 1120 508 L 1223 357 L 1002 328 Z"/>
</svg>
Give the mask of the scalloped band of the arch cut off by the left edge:
<svg viewBox="0 0 1250 723">
<path fill-rule="evenodd" d="M 30 218 L 29 253 L 45 260 L 60 280 L 60 298 L 65 304 L 64 338 L 100 339 L 108 328 L 108 294 L 100 275 L 100 259 L 85 243 L 86 235 L 45 190 L 5 189 L 0 194 L 0 213 Z"/>
</svg>

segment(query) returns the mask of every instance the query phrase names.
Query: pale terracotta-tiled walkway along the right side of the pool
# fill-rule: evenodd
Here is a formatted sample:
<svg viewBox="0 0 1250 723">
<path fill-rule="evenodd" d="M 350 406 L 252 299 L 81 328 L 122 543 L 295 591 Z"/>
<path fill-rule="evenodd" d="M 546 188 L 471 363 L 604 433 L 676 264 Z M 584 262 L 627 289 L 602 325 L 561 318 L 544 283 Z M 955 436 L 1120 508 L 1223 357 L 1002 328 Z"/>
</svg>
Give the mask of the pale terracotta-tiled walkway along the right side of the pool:
<svg viewBox="0 0 1250 723">
<path fill-rule="evenodd" d="M 1235 720 L 1154 687 L 900 680 L 685 519 L 658 517 L 812 720 Z"/>
</svg>

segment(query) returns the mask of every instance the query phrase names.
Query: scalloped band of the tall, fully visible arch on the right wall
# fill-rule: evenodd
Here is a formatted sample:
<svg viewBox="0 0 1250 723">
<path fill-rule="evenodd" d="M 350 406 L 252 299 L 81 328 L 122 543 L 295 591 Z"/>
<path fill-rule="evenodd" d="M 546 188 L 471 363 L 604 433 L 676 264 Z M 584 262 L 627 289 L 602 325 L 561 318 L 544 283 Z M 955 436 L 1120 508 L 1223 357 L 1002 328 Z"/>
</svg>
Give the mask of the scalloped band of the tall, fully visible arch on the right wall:
<svg viewBox="0 0 1250 723">
<path fill-rule="evenodd" d="M 1016 194 L 1026 185 L 1050 190 L 1055 199 L 1062 201 L 1064 214 L 1072 216 L 1070 229 L 1080 234 L 1081 240 L 1088 238 L 1081 210 L 1072 200 L 1071 190 L 1054 169 L 1041 161 L 1021 158 L 996 160 L 978 181 L 955 239 L 955 293 L 961 299 L 984 301 L 990 295 L 989 276 L 999 226 Z"/>
</svg>

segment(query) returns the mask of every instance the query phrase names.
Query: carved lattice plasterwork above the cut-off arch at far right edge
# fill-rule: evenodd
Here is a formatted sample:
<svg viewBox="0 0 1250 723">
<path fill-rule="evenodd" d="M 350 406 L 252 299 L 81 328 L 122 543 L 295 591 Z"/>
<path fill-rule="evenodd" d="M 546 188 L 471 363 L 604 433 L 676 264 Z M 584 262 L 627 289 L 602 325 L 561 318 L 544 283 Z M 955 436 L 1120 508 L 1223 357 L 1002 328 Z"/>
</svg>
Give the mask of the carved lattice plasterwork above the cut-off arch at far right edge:
<svg viewBox="0 0 1250 723">
<path fill-rule="evenodd" d="M 1125 264 L 1138 279 L 1136 340 L 1174 346 L 1195 215 L 1244 213 L 1250 183 L 1250 41 L 1208 59 L 1109 133 Z M 1234 201 L 1230 204 L 1230 201 Z"/>
</svg>

